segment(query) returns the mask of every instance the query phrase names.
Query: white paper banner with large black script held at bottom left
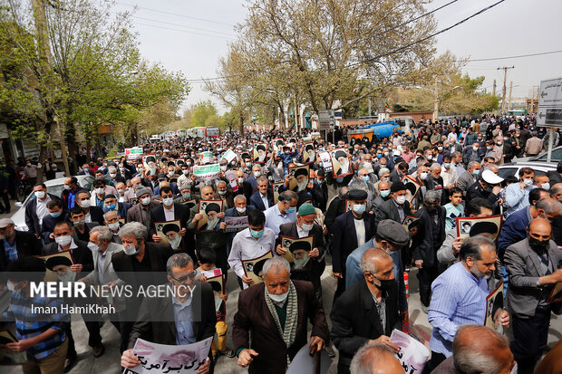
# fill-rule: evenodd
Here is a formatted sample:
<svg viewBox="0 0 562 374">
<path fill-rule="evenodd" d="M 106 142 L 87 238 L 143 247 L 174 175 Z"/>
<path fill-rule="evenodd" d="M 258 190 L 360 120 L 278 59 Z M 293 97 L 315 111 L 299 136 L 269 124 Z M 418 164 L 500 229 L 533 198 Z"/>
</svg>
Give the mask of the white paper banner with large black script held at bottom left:
<svg viewBox="0 0 562 374">
<path fill-rule="evenodd" d="M 156 344 L 137 339 L 132 351 L 140 365 L 125 370 L 136 374 L 194 374 L 208 357 L 212 337 L 187 345 Z"/>
</svg>

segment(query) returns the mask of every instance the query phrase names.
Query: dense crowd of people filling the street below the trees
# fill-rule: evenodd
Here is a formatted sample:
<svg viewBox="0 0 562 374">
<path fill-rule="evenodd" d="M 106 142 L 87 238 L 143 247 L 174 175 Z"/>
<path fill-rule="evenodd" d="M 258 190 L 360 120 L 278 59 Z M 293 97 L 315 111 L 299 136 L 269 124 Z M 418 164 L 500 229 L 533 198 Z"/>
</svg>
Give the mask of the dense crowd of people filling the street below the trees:
<svg viewBox="0 0 562 374">
<path fill-rule="evenodd" d="M 75 282 L 197 285 L 190 297 L 122 301 L 110 320 L 123 368 L 140 364 L 132 350 L 139 338 L 181 345 L 215 337 L 198 373 L 213 372 L 217 360 L 284 373 L 305 345 L 331 356 L 334 347 L 338 373 L 402 373 L 390 336 L 409 321 L 411 272 L 432 327 L 424 373 L 559 373 L 560 343 L 535 369 L 562 305 L 551 295 L 562 281 L 562 163 L 547 175 L 498 175 L 504 162 L 537 155 L 545 132 L 532 118 L 496 117 L 422 121 L 384 139 L 348 139 L 345 129 L 331 141 L 253 131 L 146 143 L 144 158 L 84 162 L 79 174 L 95 177 L 91 190 L 76 177 L 65 178 L 60 196 L 36 183 L 28 231 L 0 219 L 0 271 L 10 272 L 12 292 L 5 315 L 19 340 L 7 348 L 34 356 L 26 373 L 72 369 L 69 316 L 29 318 L 31 302 L 62 301 L 32 298 L 25 276 L 56 271 L 34 256 L 68 250 Z M 198 172 L 216 164 L 212 175 Z M 247 224 L 230 230 L 240 217 Z M 213 270 L 236 277 L 237 308 L 226 307 L 232 290 L 214 298 Z M 337 280 L 334 300 L 323 297 L 326 272 Z M 505 307 L 491 329 L 487 297 L 499 285 Z M 82 314 L 88 344 L 100 357 L 100 323 L 89 317 Z"/>
</svg>

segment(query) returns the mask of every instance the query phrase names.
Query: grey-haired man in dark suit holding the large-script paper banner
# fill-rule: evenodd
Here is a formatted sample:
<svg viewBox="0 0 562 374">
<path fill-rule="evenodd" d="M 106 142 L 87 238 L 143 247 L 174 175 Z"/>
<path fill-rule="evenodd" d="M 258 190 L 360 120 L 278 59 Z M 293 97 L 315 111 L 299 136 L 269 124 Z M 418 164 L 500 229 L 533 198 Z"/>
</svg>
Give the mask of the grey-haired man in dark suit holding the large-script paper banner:
<svg viewBox="0 0 562 374">
<path fill-rule="evenodd" d="M 168 282 L 173 285 L 174 295 L 150 297 L 142 301 L 137 320 L 132 325 L 129 350 L 125 350 L 121 356 L 121 366 L 124 368 L 140 365 L 139 358 L 132 353 L 132 347 L 139 338 L 158 344 L 184 345 L 215 335 L 217 314 L 213 290 L 208 283 L 194 282 L 195 269 L 189 254 L 172 255 L 168 260 L 168 268 Z M 189 298 L 191 302 L 188 304 Z M 191 321 L 182 318 L 186 304 Z M 185 333 L 179 334 L 178 326 L 185 323 L 189 323 L 191 331 L 186 329 Z M 198 373 L 212 373 L 210 357 L 196 369 Z"/>
</svg>

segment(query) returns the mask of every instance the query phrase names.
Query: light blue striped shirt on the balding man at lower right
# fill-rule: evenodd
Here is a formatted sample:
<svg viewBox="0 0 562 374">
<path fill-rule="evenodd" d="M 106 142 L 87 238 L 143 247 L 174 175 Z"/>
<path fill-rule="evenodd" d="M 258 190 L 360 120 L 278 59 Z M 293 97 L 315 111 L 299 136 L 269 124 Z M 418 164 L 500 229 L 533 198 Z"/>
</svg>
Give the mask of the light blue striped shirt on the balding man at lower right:
<svg viewBox="0 0 562 374">
<path fill-rule="evenodd" d="M 462 263 L 457 263 L 433 281 L 431 292 L 428 319 L 433 330 L 430 347 L 432 351 L 450 357 L 452 340 L 460 326 L 484 324 L 488 281 L 475 278 Z"/>
</svg>

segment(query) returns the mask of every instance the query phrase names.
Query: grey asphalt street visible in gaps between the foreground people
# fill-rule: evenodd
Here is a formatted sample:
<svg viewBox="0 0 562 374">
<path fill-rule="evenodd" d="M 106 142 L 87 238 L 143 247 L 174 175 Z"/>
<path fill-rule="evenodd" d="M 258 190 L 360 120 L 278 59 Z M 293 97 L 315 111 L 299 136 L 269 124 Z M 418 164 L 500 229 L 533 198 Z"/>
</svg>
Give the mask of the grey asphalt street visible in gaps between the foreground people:
<svg viewBox="0 0 562 374">
<path fill-rule="evenodd" d="M 12 214 L 15 213 L 16 207 L 13 208 Z M 9 217 L 10 215 L 0 215 L 0 218 Z M 328 259 L 329 261 L 329 259 Z M 411 324 L 413 325 L 413 331 L 422 340 L 422 342 L 429 347 L 429 337 L 431 335 L 431 325 L 427 320 L 427 314 L 422 312 L 420 297 L 418 293 L 418 282 L 415 274 L 416 269 L 412 269 L 409 273 L 409 316 Z M 331 275 L 331 265 L 327 265 L 325 273 L 322 276 L 323 285 L 323 304 L 325 308 L 326 318 L 328 320 L 328 326 L 331 328 L 331 321 L 329 318 L 330 312 L 332 311 L 332 302 L 334 300 L 334 291 L 336 286 L 336 281 L 334 276 Z M 237 284 L 236 275 L 232 272 L 228 273 L 228 301 L 227 301 L 227 324 L 228 324 L 228 348 L 233 348 L 232 345 L 232 321 L 234 314 L 237 310 L 237 299 L 240 289 Z M 309 326 L 310 331 L 310 326 Z M 506 331 L 508 338 L 511 340 L 511 331 L 508 329 Z M 78 352 L 78 362 L 74 368 L 70 371 L 75 374 L 84 373 L 107 373 L 107 374 L 119 374 L 121 373 L 120 366 L 120 353 L 119 353 L 119 334 L 111 324 L 107 321 L 102 327 L 102 340 L 105 346 L 105 353 L 102 357 L 94 359 L 92 355 L 92 350 L 88 346 L 88 331 L 82 321 L 82 317 L 78 315 L 73 315 L 73 336 L 76 340 L 76 350 Z M 562 318 L 560 316 L 552 315 L 550 321 L 550 329 L 548 331 L 548 348 L 551 348 L 556 344 L 556 342 L 562 338 Z M 259 350 L 257 349 L 259 352 Z M 336 363 L 337 363 L 337 350 L 336 357 L 328 371 L 328 374 L 336 373 Z M 0 372 L 6 374 L 21 373 L 19 367 L 2 367 Z M 246 373 L 247 369 L 242 369 L 237 366 L 237 359 L 229 359 L 226 356 L 219 356 L 217 365 L 215 367 L 215 373 L 217 374 L 237 374 Z"/>
</svg>

